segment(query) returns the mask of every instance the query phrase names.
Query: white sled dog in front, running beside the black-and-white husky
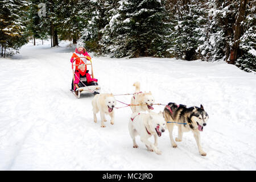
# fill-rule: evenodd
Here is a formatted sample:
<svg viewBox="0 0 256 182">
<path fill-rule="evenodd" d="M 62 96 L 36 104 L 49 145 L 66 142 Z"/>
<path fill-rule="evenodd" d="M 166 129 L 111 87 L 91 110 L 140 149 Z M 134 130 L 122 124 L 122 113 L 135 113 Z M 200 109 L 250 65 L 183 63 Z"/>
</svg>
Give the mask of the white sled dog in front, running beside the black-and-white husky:
<svg viewBox="0 0 256 182">
<path fill-rule="evenodd" d="M 154 151 L 156 154 L 162 154 L 158 149 L 158 137 L 164 132 L 165 121 L 163 113 L 133 113 L 129 121 L 129 133 L 133 139 L 133 147 L 138 148 L 135 137 L 139 135 L 141 141 L 146 144 L 147 150 Z M 155 143 L 148 141 L 154 135 Z M 158 136 L 158 137 L 157 137 Z"/>
</svg>

